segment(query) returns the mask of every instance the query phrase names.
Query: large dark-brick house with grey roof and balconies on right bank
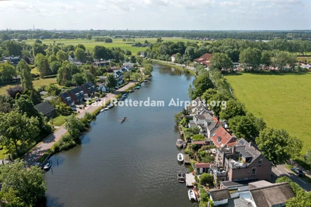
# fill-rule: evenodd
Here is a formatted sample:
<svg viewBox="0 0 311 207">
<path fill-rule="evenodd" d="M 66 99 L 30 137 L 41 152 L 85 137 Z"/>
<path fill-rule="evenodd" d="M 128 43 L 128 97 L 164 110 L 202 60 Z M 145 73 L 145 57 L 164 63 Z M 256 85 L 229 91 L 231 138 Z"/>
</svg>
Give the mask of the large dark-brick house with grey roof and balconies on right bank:
<svg viewBox="0 0 311 207">
<path fill-rule="evenodd" d="M 224 134 L 224 136 L 222 136 L 222 140 L 226 139 L 227 134 Z M 213 136 L 211 136 L 211 139 L 213 139 Z M 218 141 L 218 136 L 216 136 L 216 139 Z M 272 163 L 252 142 L 248 143 L 241 138 L 238 142 L 232 142 L 231 139 L 230 143 L 225 144 L 222 143 L 222 140 L 220 142 L 225 147 L 216 150 L 216 166 L 212 169 L 215 180 L 219 180 L 220 177 L 222 181 L 270 180 Z M 218 175 L 217 172 L 220 170 L 226 171 L 226 175 Z M 222 179 L 222 177 L 225 177 L 225 179 Z"/>
</svg>

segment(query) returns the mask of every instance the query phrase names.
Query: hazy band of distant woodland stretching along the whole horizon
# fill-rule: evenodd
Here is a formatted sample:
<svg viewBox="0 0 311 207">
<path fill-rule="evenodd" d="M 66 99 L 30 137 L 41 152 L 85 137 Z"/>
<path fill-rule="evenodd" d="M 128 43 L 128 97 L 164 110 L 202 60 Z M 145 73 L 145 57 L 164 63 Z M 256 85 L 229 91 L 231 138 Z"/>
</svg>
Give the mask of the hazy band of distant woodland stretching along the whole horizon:
<svg viewBox="0 0 311 207">
<path fill-rule="evenodd" d="M 56 38 L 88 38 L 91 36 L 119 36 L 128 38 L 135 37 L 182 37 L 182 38 L 209 38 L 209 39 L 248 39 L 248 40 L 272 40 L 275 38 L 284 38 L 288 40 L 302 39 L 310 40 L 310 30 L 292 30 L 292 31 L 162 31 L 162 30 L 88 30 L 88 31 L 2 31 L 0 39 L 56 39 Z"/>
</svg>

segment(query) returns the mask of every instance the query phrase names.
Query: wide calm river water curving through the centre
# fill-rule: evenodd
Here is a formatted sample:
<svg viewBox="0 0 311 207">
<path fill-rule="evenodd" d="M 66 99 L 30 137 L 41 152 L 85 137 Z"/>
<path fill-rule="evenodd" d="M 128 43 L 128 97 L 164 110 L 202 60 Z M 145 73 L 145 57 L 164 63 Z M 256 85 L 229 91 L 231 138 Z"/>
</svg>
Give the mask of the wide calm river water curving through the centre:
<svg viewBox="0 0 311 207">
<path fill-rule="evenodd" d="M 100 113 L 82 144 L 51 157 L 45 173 L 47 206 L 193 206 L 187 187 L 177 182 L 174 114 L 170 100 L 186 96 L 190 75 L 154 64 L 152 80 L 131 93 L 132 100 L 163 100 L 164 107 L 114 107 Z M 120 119 L 127 121 L 120 124 Z M 58 165 L 57 160 L 58 159 Z"/>
</svg>

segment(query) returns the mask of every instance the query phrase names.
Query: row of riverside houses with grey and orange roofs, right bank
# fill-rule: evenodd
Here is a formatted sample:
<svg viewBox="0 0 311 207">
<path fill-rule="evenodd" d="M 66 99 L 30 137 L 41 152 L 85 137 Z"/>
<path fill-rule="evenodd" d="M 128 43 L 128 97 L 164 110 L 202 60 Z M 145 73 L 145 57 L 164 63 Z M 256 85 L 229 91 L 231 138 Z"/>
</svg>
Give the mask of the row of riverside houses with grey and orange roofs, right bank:
<svg viewBox="0 0 311 207">
<path fill-rule="evenodd" d="M 206 163 L 207 169 L 204 169 L 213 175 L 215 183 L 256 179 L 269 181 L 272 163 L 256 145 L 243 138 L 238 140 L 225 123 L 213 116 L 200 98 L 193 103 L 189 107 L 189 117 L 193 119 L 189 121 L 188 127 L 199 127 L 200 134 L 206 139 L 192 143 L 216 146 L 215 162 Z M 195 169 L 201 170 L 198 165 L 195 165 Z"/>
</svg>

